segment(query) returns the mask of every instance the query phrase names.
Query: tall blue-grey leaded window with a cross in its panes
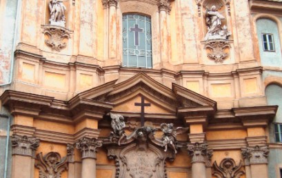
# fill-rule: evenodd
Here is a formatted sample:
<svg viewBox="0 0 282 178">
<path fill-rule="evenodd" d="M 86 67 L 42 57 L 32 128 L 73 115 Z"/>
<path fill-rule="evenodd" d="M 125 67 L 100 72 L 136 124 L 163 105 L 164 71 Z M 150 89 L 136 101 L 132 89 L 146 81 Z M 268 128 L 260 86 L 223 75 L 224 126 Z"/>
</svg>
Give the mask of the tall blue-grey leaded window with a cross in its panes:
<svg viewBox="0 0 282 178">
<path fill-rule="evenodd" d="M 152 68 L 151 19 L 123 14 L 123 66 Z"/>
</svg>

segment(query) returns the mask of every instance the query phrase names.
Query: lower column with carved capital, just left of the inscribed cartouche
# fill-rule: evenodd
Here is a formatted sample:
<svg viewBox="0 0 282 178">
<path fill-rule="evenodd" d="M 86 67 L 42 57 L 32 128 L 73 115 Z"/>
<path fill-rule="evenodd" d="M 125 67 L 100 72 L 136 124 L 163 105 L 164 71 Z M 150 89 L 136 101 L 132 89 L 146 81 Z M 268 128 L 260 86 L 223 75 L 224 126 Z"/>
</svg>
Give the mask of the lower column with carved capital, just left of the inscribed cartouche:
<svg viewBox="0 0 282 178">
<path fill-rule="evenodd" d="M 81 177 L 96 177 L 96 152 L 102 146 L 102 141 L 95 138 L 83 137 L 77 141 L 77 149 L 81 150 Z"/>
</svg>

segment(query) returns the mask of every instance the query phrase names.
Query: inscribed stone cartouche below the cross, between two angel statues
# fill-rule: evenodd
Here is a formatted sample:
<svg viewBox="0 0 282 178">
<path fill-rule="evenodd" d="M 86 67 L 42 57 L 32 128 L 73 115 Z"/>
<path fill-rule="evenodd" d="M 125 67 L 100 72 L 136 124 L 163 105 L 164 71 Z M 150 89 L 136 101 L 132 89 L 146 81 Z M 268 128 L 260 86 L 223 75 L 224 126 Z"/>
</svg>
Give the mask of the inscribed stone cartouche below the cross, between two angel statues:
<svg viewBox="0 0 282 178">
<path fill-rule="evenodd" d="M 165 160 L 173 161 L 175 152 L 163 150 L 163 140 L 154 138 L 155 128 L 137 128 L 118 146 L 117 142 L 105 139 L 108 158 L 115 159 L 117 178 L 165 178 Z"/>
</svg>

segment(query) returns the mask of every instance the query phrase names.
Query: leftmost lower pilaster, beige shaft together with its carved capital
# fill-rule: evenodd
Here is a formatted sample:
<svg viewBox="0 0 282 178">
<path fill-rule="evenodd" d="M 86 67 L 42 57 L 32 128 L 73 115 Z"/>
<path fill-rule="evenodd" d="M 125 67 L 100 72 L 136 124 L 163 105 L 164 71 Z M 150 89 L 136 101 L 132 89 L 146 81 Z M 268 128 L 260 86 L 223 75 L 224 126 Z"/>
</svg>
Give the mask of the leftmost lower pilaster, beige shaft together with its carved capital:
<svg viewBox="0 0 282 178">
<path fill-rule="evenodd" d="M 12 135 L 12 178 L 34 177 L 34 154 L 39 139 L 26 135 Z"/>
</svg>

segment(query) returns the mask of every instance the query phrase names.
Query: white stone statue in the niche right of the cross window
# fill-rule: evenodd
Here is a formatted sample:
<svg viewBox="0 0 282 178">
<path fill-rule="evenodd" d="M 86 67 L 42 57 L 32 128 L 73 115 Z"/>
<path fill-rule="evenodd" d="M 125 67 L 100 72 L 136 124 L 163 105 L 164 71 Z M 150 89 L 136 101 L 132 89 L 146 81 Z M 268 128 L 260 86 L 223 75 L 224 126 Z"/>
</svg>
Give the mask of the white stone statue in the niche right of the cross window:
<svg viewBox="0 0 282 178">
<path fill-rule="evenodd" d="M 212 6 L 206 13 L 205 22 L 208 26 L 208 32 L 205 34 L 205 41 L 210 39 L 228 39 L 231 32 L 228 32 L 226 26 L 221 28 L 221 20 L 225 19 L 222 14 L 216 11 L 216 6 Z"/>
</svg>

